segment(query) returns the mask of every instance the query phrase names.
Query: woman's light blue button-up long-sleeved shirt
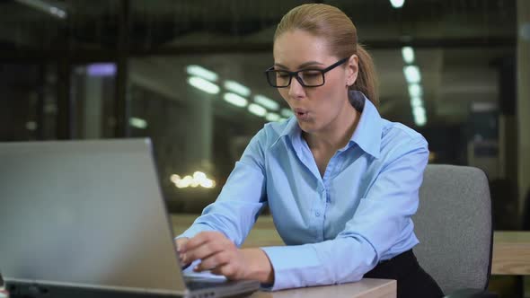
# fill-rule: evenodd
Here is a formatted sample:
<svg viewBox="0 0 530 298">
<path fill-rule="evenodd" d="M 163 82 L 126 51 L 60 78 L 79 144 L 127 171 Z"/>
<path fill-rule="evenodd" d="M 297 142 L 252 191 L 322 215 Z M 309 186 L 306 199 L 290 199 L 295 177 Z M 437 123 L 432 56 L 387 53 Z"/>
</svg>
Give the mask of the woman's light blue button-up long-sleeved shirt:
<svg viewBox="0 0 530 298">
<path fill-rule="evenodd" d="M 367 100 L 323 177 L 296 118 L 268 123 L 216 202 L 179 237 L 213 230 L 239 247 L 268 204 L 286 243 L 261 248 L 274 268 L 269 289 L 358 281 L 379 261 L 418 244 L 411 215 L 427 162 L 425 138 L 381 118 Z"/>
</svg>

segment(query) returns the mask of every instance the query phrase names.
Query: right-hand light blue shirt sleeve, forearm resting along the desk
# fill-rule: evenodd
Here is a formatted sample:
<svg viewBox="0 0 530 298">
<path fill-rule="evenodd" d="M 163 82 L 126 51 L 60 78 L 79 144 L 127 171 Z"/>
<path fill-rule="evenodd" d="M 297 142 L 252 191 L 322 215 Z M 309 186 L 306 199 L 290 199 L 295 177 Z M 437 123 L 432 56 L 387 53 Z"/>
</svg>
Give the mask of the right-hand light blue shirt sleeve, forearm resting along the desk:
<svg viewBox="0 0 530 298">
<path fill-rule="evenodd" d="M 358 281 L 375 267 L 384 252 L 402 241 L 402 229 L 411 228 L 411 215 L 418 209 L 428 162 L 427 141 L 422 136 L 407 141 L 395 146 L 393 157 L 335 239 L 261 248 L 275 275 L 274 284 L 266 290 Z"/>
</svg>

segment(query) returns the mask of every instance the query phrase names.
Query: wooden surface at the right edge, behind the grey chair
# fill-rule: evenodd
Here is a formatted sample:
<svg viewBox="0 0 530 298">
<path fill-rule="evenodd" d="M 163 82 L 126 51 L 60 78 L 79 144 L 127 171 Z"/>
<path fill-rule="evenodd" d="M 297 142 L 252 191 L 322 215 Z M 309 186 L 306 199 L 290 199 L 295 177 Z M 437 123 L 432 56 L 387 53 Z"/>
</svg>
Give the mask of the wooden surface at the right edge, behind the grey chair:
<svg viewBox="0 0 530 298">
<path fill-rule="evenodd" d="M 491 274 L 530 275 L 530 232 L 493 233 Z"/>
</svg>

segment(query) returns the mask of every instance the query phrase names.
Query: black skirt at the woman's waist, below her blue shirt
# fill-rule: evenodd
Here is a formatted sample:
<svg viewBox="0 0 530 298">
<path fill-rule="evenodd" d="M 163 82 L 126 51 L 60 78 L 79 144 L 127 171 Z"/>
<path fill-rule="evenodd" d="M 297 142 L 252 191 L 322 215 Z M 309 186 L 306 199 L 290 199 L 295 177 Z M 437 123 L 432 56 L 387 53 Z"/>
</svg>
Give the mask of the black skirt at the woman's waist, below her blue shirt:
<svg viewBox="0 0 530 298">
<path fill-rule="evenodd" d="M 439 298 L 444 293 L 437 282 L 420 267 L 412 250 L 380 262 L 365 274 L 368 278 L 397 280 L 397 298 Z"/>
</svg>

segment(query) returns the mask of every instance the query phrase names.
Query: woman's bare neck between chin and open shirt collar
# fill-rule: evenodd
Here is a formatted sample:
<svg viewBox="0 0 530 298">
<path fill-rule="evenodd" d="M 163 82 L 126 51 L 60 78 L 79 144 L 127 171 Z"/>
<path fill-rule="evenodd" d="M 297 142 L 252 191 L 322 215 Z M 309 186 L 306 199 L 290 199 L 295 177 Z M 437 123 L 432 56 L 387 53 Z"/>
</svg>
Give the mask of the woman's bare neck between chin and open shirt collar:
<svg viewBox="0 0 530 298">
<path fill-rule="evenodd" d="M 337 118 L 324 129 L 314 133 L 303 133 L 309 148 L 337 151 L 348 144 L 358 125 L 360 113 L 346 101 L 347 106 Z"/>
</svg>

